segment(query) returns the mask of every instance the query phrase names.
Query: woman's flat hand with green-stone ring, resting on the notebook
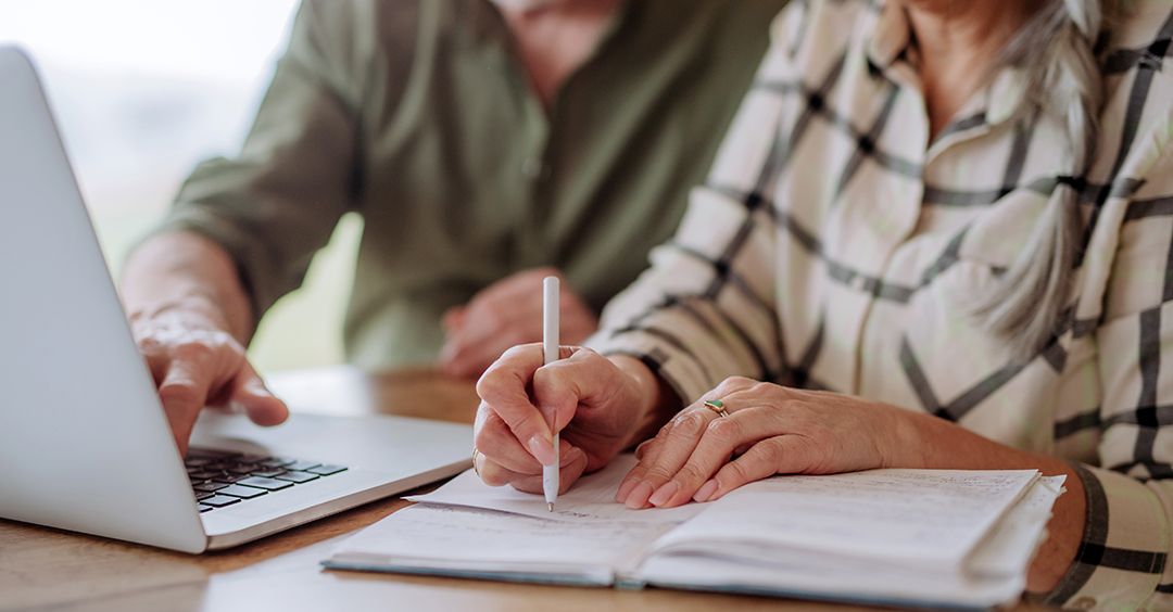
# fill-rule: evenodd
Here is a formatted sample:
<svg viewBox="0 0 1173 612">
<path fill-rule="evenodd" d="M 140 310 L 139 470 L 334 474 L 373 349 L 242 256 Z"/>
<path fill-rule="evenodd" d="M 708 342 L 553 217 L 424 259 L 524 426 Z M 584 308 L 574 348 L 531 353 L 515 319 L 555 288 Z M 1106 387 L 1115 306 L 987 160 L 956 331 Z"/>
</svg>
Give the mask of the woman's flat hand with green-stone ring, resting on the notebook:
<svg viewBox="0 0 1173 612">
<path fill-rule="evenodd" d="M 705 407 L 706 400 L 720 400 L 728 416 Z M 731 378 L 639 446 L 639 463 L 619 484 L 616 501 L 670 508 L 717 499 L 774 474 L 895 467 L 901 450 L 915 448 L 907 440 L 907 415 L 848 395 Z"/>
</svg>

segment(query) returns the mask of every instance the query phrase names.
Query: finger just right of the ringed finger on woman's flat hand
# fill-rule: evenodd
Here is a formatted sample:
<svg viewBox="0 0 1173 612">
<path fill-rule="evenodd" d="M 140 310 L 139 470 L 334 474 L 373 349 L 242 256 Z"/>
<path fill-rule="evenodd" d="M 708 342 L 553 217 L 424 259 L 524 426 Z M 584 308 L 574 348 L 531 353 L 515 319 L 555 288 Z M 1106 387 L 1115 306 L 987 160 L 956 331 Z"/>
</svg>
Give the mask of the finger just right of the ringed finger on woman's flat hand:
<svg viewBox="0 0 1173 612">
<path fill-rule="evenodd" d="M 741 408 L 728 416 L 717 417 L 700 436 L 692 455 L 670 481 L 656 489 L 647 501 L 657 508 L 684 504 L 721 465 L 728 463 L 739 447 L 752 448 L 771 431 L 772 413 L 764 408 Z"/>
</svg>

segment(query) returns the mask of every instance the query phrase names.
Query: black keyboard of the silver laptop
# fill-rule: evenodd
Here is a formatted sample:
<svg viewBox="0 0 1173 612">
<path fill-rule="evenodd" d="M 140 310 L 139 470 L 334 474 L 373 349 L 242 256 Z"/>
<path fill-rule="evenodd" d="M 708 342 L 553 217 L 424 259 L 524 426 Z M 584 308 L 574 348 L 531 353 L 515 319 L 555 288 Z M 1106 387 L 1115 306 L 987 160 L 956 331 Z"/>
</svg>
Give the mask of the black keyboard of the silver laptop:
<svg viewBox="0 0 1173 612">
<path fill-rule="evenodd" d="M 189 449 L 183 463 L 201 512 L 346 471 L 345 465 L 205 448 Z"/>
</svg>

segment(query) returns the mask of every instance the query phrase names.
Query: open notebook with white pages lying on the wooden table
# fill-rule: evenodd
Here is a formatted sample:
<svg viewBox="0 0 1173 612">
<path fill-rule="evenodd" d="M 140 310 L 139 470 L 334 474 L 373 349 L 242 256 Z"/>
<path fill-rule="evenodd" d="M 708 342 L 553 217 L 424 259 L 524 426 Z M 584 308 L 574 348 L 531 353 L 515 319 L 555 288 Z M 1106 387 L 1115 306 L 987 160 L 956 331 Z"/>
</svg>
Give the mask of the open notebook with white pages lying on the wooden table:
<svg viewBox="0 0 1173 612">
<path fill-rule="evenodd" d="M 584 477 L 552 514 L 541 496 L 465 472 L 344 540 L 324 565 L 988 607 L 1021 596 L 1063 484 L 1033 470 L 873 470 L 629 510 L 613 496 L 633 464 L 621 456 Z"/>
</svg>

